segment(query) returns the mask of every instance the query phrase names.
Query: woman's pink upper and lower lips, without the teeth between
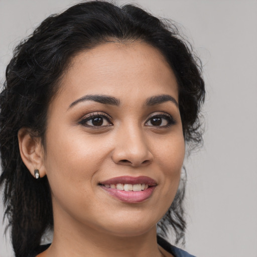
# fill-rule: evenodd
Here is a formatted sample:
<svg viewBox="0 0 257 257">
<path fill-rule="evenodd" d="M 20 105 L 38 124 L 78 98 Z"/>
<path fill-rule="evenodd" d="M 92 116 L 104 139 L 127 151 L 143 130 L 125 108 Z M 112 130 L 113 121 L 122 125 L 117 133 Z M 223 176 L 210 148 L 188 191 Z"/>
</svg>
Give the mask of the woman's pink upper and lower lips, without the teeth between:
<svg viewBox="0 0 257 257">
<path fill-rule="evenodd" d="M 105 180 L 103 182 L 99 183 L 101 188 L 110 194 L 112 197 L 126 203 L 140 203 L 148 198 L 151 197 L 153 194 L 157 182 L 147 176 L 140 176 L 140 177 L 130 177 L 130 176 L 122 176 L 122 177 L 116 177 L 112 179 Z M 146 184 L 149 187 L 142 191 L 123 191 L 113 188 L 107 188 L 104 185 L 110 185 L 110 184 Z"/>
</svg>

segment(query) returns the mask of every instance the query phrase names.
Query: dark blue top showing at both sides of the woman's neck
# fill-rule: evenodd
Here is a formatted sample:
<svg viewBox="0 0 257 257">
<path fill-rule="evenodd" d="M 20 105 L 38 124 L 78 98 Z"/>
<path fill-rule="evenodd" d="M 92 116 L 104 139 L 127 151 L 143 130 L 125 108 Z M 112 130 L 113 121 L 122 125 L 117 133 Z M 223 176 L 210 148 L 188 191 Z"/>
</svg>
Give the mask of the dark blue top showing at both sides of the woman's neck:
<svg viewBox="0 0 257 257">
<path fill-rule="evenodd" d="M 189 254 L 188 252 L 171 245 L 165 239 L 160 236 L 157 236 L 157 242 L 162 246 L 166 251 L 170 252 L 174 257 L 195 257 L 194 255 Z M 36 257 L 39 253 L 46 250 L 50 246 L 49 244 L 40 245 L 34 252 L 32 252 L 28 257 Z"/>
</svg>

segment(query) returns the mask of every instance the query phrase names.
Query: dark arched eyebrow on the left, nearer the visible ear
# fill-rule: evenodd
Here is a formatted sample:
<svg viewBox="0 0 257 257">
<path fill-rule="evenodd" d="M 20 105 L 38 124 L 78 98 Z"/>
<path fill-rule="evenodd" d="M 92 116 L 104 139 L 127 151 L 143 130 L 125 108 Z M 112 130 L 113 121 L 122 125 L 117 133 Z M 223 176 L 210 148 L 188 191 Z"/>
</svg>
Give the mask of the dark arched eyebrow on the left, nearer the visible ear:
<svg viewBox="0 0 257 257">
<path fill-rule="evenodd" d="M 83 101 L 95 101 L 95 102 L 99 102 L 99 103 L 103 103 L 103 104 L 111 104 L 111 105 L 116 105 L 116 106 L 118 106 L 120 104 L 119 99 L 117 99 L 115 97 L 108 96 L 108 95 L 101 95 L 101 94 L 93 94 L 93 95 L 82 96 L 81 98 L 72 102 L 69 105 L 69 108 L 71 108 L 74 105 L 78 104 L 79 102 L 83 102 Z"/>
</svg>

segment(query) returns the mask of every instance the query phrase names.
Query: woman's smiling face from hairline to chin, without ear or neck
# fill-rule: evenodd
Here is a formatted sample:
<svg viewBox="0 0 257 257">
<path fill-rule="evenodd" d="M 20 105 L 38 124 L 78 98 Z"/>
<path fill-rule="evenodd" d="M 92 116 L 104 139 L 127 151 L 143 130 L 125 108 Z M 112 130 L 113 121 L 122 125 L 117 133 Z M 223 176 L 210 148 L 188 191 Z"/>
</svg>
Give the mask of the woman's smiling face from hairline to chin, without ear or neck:
<svg viewBox="0 0 257 257">
<path fill-rule="evenodd" d="M 143 234 L 170 207 L 184 159 L 173 71 L 146 43 L 108 43 L 75 56 L 60 84 L 41 168 L 55 225 Z"/>
</svg>

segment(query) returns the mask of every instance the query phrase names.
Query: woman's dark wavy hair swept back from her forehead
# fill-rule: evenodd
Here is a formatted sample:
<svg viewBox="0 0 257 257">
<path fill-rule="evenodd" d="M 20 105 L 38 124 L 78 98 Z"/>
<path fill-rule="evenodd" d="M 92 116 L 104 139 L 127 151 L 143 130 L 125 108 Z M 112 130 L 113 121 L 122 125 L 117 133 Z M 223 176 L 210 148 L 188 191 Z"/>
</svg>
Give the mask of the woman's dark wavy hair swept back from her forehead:
<svg viewBox="0 0 257 257">
<path fill-rule="evenodd" d="M 27 127 L 44 142 L 49 102 L 57 94 L 58 82 L 71 58 L 106 42 L 127 41 L 146 42 L 166 58 L 179 85 L 185 142 L 192 146 L 202 142 L 199 113 L 205 89 L 201 64 L 172 22 L 162 21 L 134 5 L 117 7 L 104 1 L 80 3 L 48 17 L 15 48 L 0 94 L 0 185 L 4 188 L 5 217 L 17 257 L 36 249 L 46 229 L 53 227 L 47 177 L 35 180 L 24 165 L 18 131 Z M 184 240 L 186 228 L 184 192 L 182 183 L 159 222 L 164 234 L 172 226 L 176 243 Z"/>
</svg>

